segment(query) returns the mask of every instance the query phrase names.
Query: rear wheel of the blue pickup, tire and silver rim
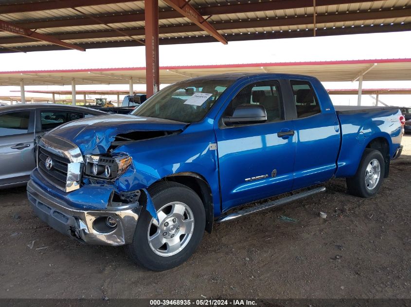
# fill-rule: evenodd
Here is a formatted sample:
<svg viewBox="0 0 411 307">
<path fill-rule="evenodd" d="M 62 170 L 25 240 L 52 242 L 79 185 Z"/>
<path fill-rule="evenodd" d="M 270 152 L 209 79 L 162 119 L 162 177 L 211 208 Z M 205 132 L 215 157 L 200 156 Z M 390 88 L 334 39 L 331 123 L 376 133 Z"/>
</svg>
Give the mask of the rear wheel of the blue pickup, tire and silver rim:
<svg viewBox="0 0 411 307">
<path fill-rule="evenodd" d="M 371 197 L 378 193 L 384 178 L 385 162 L 381 152 L 366 148 L 354 177 L 347 178 L 350 194 Z"/>
</svg>

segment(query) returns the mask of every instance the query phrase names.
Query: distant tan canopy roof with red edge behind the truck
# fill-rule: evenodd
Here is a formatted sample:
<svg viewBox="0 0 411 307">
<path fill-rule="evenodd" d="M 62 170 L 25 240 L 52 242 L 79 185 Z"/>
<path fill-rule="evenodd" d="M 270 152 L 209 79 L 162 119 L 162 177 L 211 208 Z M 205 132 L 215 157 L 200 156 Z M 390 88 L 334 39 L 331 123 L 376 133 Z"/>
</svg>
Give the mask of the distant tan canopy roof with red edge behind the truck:
<svg viewBox="0 0 411 307">
<path fill-rule="evenodd" d="M 269 72 L 311 75 L 320 81 L 411 80 L 411 59 L 379 59 L 327 62 L 256 63 L 160 67 L 160 81 L 174 83 L 188 78 L 233 72 Z M 0 85 L 145 84 L 145 67 L 71 70 L 0 71 Z"/>
</svg>

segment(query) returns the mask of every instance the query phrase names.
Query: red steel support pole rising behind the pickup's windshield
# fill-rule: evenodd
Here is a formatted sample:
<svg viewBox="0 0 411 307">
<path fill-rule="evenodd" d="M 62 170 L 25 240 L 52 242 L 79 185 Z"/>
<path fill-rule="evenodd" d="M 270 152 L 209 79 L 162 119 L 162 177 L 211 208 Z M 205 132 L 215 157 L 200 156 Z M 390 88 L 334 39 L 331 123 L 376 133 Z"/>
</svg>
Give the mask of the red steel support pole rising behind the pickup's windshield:
<svg viewBox="0 0 411 307">
<path fill-rule="evenodd" d="M 159 0 L 144 0 L 147 97 L 159 90 Z"/>
</svg>

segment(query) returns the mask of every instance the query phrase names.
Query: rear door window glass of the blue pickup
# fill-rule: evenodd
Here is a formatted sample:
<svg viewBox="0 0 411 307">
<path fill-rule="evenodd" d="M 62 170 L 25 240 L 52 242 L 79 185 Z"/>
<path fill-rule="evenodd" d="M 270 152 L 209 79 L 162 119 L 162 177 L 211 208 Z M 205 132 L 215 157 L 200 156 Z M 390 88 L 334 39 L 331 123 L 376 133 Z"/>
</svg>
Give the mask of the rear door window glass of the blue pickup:
<svg viewBox="0 0 411 307">
<path fill-rule="evenodd" d="M 294 93 L 294 102 L 298 118 L 321 113 L 318 99 L 310 82 L 292 80 L 290 83 Z"/>
</svg>

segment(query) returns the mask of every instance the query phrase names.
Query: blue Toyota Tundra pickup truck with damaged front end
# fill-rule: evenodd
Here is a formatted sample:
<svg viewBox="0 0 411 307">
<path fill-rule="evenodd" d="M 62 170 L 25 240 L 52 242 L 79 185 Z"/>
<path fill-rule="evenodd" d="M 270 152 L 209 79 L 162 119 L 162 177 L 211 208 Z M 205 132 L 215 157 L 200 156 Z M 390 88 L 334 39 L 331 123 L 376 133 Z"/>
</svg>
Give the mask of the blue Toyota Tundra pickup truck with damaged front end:
<svg viewBox="0 0 411 307">
<path fill-rule="evenodd" d="M 308 76 L 190 79 L 131 114 L 47 133 L 27 195 L 61 233 L 125 245 L 136 263 L 167 270 L 192 255 L 213 223 L 321 193 L 331 178 L 347 178 L 351 194 L 374 196 L 401 154 L 400 115 L 393 107 L 336 110 Z"/>
</svg>

